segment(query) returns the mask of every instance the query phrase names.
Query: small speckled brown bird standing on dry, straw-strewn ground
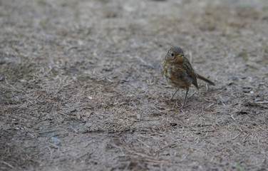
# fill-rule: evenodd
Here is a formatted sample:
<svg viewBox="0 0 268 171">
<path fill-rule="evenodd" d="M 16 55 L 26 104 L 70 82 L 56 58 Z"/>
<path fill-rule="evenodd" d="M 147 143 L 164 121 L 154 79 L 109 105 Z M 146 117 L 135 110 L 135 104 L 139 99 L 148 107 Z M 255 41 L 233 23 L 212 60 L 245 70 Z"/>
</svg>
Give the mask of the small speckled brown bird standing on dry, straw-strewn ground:
<svg viewBox="0 0 268 171">
<path fill-rule="evenodd" d="M 200 76 L 198 73 L 195 73 L 190 61 L 185 57 L 185 54 L 180 47 L 171 47 L 168 50 L 168 53 L 160 64 L 160 73 L 168 84 L 177 88 L 177 90 L 180 88 L 185 88 L 186 93 L 181 109 L 183 109 L 185 106 L 185 100 L 187 98 L 187 93 L 190 86 L 193 84 L 198 89 L 197 78 L 209 83 L 212 86 L 215 86 L 215 83 L 209 79 Z M 173 93 L 170 100 L 172 100 L 174 95 L 177 93 L 177 90 L 175 93 Z"/>
</svg>

